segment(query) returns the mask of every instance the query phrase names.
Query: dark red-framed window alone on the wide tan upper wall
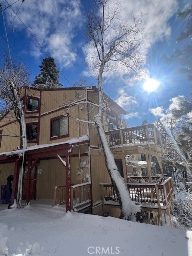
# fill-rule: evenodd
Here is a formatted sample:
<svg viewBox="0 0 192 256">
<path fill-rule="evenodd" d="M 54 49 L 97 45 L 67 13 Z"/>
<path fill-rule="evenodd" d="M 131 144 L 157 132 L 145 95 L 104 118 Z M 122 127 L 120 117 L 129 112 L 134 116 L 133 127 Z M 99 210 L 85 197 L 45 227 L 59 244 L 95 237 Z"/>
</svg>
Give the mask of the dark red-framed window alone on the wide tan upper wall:
<svg viewBox="0 0 192 256">
<path fill-rule="evenodd" d="M 51 138 L 68 136 L 68 116 L 51 119 Z"/>
</svg>

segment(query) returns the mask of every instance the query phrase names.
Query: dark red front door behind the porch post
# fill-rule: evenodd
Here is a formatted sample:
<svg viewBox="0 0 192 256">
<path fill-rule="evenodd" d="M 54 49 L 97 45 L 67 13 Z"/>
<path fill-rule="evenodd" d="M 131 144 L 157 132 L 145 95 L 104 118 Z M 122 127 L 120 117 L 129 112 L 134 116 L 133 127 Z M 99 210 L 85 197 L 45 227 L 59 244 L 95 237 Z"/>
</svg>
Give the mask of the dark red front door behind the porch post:
<svg viewBox="0 0 192 256">
<path fill-rule="evenodd" d="M 27 192 L 27 167 L 24 173 L 23 185 L 22 185 L 22 199 L 26 199 Z M 31 185 L 30 185 L 30 200 L 36 200 L 36 178 L 37 178 L 37 166 L 35 166 L 31 172 Z"/>
</svg>

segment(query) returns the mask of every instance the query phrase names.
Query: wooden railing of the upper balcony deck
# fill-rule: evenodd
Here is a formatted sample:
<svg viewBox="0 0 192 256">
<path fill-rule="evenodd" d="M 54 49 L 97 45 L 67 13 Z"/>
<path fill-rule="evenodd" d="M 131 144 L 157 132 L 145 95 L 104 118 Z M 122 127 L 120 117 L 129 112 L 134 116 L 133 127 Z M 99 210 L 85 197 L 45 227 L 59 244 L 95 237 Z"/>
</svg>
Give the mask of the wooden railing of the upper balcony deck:
<svg viewBox="0 0 192 256">
<path fill-rule="evenodd" d="M 154 124 L 147 124 L 122 129 L 119 128 L 105 133 L 110 146 L 154 142 L 158 146 L 165 148 L 164 136 L 156 128 L 156 126 L 154 126 Z"/>
</svg>

